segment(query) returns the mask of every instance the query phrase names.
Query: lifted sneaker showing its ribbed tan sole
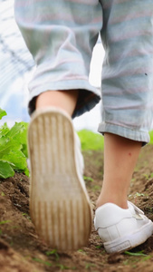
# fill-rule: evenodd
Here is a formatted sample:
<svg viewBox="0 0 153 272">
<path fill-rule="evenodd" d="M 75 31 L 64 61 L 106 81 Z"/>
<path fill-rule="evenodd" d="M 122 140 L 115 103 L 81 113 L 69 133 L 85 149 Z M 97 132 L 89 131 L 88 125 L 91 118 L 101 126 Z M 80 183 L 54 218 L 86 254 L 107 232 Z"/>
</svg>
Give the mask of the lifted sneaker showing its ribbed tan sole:
<svg viewBox="0 0 153 272">
<path fill-rule="evenodd" d="M 91 204 L 71 118 L 55 108 L 34 112 L 28 146 L 30 211 L 37 233 L 52 248 L 85 246 L 91 234 Z"/>
</svg>

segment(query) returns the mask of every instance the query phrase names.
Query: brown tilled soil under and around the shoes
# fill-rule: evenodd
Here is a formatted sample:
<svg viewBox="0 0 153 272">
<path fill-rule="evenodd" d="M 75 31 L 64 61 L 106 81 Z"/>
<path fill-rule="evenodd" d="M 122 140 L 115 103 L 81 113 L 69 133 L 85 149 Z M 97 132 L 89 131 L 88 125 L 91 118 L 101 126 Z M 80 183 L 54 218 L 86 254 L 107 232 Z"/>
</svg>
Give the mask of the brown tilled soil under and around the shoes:
<svg viewBox="0 0 153 272">
<path fill-rule="evenodd" d="M 85 182 L 93 209 L 100 193 L 103 154 L 86 151 Z M 153 146 L 143 148 L 129 190 L 129 200 L 153 220 Z M 129 255 L 130 254 L 130 255 Z M 0 180 L 0 271 L 153 271 L 153 237 L 129 253 L 105 252 L 92 228 L 86 248 L 57 252 L 37 237 L 29 215 L 29 180 L 24 174 Z"/>
</svg>

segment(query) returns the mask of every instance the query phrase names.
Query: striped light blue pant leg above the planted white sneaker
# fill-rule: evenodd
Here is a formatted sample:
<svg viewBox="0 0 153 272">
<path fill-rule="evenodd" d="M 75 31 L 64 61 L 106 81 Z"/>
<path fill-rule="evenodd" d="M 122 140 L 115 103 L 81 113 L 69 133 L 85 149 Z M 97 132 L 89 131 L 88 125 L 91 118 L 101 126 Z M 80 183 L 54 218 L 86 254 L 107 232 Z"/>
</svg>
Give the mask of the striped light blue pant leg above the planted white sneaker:
<svg viewBox="0 0 153 272">
<path fill-rule="evenodd" d="M 153 1 L 100 2 L 106 54 L 99 131 L 145 143 L 153 120 Z"/>
</svg>

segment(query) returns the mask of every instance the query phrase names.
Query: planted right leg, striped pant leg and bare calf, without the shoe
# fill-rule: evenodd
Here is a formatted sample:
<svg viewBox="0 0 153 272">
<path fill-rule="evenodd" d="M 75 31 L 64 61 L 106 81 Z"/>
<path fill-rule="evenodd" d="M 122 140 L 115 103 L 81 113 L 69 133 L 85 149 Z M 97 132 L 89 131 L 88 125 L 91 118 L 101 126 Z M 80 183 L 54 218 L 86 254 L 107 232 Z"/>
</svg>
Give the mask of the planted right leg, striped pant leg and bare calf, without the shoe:
<svg viewBox="0 0 153 272">
<path fill-rule="evenodd" d="M 126 208 L 129 182 L 140 146 L 149 141 L 153 119 L 153 27 L 149 12 L 153 2 L 137 5 L 133 0 L 120 4 L 117 0 L 101 0 L 101 4 L 105 25 L 101 38 L 106 58 L 99 131 L 104 133 L 105 158 L 98 206 L 110 201 Z"/>
</svg>

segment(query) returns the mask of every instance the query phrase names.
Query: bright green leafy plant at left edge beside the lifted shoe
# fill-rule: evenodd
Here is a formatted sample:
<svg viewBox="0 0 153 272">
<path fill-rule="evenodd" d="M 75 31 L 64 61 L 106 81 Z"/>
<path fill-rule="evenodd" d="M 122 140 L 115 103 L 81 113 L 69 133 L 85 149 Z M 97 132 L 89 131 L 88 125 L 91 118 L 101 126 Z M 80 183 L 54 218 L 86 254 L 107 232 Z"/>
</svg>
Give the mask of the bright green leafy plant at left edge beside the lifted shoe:
<svg viewBox="0 0 153 272">
<path fill-rule="evenodd" d="M 0 119 L 6 112 L 0 109 Z M 0 178 L 14 176 L 14 170 L 29 174 L 27 169 L 27 134 L 28 123 L 15 122 L 10 129 L 5 123 L 0 127 Z"/>
</svg>

